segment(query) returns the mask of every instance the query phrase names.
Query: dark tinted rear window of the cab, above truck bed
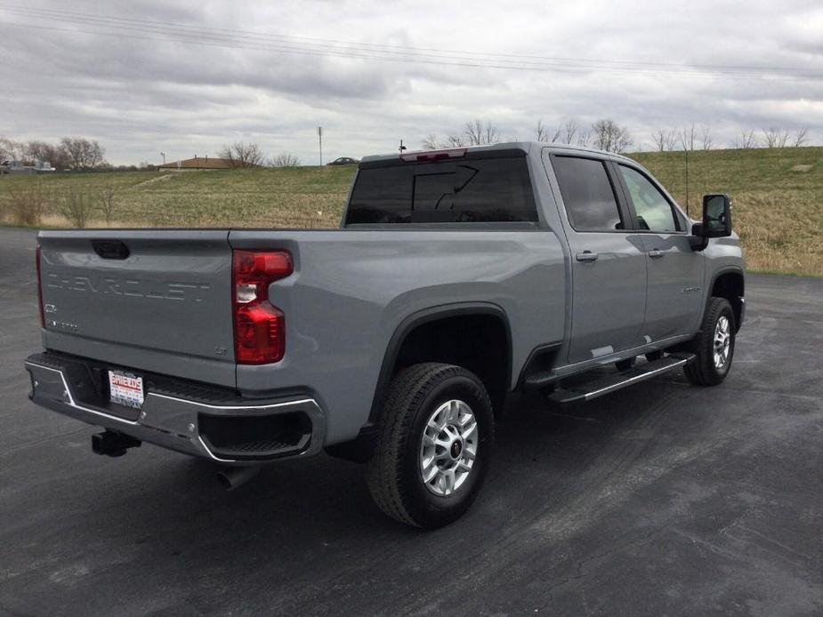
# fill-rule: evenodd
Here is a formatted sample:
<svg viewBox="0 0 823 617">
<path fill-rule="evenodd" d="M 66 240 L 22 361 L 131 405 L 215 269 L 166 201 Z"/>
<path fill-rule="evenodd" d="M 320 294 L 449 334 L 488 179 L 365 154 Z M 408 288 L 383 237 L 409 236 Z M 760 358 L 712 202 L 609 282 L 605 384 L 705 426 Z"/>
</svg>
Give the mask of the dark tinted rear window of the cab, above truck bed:
<svg viewBox="0 0 823 617">
<path fill-rule="evenodd" d="M 507 220 L 537 220 L 524 156 L 361 169 L 346 225 Z"/>
</svg>

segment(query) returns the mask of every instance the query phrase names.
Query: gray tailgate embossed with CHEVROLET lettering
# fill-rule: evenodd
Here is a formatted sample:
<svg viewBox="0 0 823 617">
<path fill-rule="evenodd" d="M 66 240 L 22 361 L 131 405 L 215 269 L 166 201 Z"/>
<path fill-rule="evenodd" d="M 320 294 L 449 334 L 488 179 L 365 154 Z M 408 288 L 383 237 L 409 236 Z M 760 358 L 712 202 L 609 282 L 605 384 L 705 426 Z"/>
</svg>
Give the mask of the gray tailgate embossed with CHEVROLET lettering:
<svg viewBox="0 0 823 617">
<path fill-rule="evenodd" d="M 45 348 L 234 387 L 228 235 L 41 232 Z"/>
</svg>

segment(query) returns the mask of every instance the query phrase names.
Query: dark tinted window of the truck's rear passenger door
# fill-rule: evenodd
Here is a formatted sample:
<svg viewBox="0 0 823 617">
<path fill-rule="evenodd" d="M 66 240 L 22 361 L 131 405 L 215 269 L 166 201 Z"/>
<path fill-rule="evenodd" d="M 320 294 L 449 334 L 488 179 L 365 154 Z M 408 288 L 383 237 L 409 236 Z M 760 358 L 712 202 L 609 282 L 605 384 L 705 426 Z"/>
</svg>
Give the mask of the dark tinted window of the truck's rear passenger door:
<svg viewBox="0 0 823 617">
<path fill-rule="evenodd" d="M 624 228 L 614 189 L 601 161 L 555 156 L 553 166 L 573 228 L 577 231 Z"/>
</svg>

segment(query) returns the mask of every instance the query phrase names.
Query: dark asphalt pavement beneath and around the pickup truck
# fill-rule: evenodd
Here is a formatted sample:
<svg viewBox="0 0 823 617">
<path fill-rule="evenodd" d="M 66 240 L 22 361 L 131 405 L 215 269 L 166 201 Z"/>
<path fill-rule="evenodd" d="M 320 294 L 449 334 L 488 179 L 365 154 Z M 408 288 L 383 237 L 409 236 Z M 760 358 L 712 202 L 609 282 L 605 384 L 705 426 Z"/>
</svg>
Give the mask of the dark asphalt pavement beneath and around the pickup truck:
<svg viewBox="0 0 823 617">
<path fill-rule="evenodd" d="M 424 533 L 326 455 L 228 493 L 93 454 L 27 398 L 35 244 L 0 229 L 0 614 L 823 614 L 823 279 L 748 277 L 719 387 L 512 400 L 480 499 Z"/>
</svg>

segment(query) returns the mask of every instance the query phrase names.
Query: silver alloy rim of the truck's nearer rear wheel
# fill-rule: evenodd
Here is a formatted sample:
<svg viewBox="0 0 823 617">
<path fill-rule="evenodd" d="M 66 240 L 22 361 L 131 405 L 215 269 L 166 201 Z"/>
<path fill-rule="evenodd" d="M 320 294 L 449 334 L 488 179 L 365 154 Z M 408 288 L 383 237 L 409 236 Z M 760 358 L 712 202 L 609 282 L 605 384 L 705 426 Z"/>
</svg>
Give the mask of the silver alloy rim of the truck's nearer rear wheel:
<svg viewBox="0 0 823 617">
<path fill-rule="evenodd" d="M 479 431 L 472 408 L 452 399 L 440 405 L 426 422 L 420 442 L 420 478 L 440 497 L 454 494 L 472 473 Z"/>
</svg>

